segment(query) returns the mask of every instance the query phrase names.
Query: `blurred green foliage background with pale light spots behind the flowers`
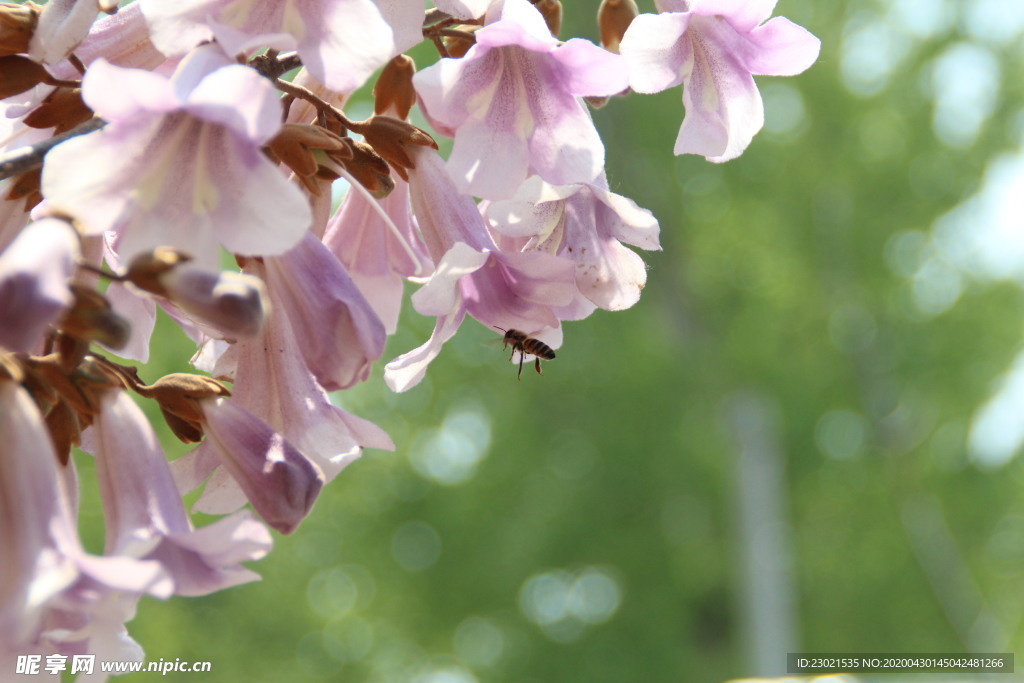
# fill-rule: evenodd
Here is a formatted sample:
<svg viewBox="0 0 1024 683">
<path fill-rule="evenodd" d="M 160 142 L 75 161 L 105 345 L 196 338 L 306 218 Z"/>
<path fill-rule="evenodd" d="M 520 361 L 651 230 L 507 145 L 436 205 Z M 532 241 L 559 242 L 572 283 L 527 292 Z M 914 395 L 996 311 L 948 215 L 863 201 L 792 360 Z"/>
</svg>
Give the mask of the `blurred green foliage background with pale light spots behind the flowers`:
<svg viewBox="0 0 1024 683">
<path fill-rule="evenodd" d="M 596 6 L 563 36 L 596 38 Z M 339 395 L 397 451 L 276 537 L 262 582 L 143 600 L 151 660 L 718 682 L 787 651 L 1024 653 L 1024 3 L 775 13 L 821 56 L 759 79 L 740 159 L 672 155 L 679 89 L 594 114 L 612 188 L 660 219 L 640 303 L 566 325 L 543 378 L 467 322 L 409 393 L 377 368 Z M 431 327 L 407 310 L 385 357 Z"/>
</svg>

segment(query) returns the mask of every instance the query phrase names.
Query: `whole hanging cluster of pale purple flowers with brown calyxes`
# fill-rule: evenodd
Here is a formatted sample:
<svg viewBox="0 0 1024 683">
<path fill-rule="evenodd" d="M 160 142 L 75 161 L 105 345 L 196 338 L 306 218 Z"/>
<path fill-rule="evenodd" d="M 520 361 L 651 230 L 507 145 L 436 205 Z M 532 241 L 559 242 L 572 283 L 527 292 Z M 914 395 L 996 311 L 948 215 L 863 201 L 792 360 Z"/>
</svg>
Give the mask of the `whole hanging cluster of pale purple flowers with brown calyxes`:
<svg viewBox="0 0 1024 683">
<path fill-rule="evenodd" d="M 385 365 L 395 391 L 467 315 L 557 348 L 562 322 L 637 302 L 628 246 L 659 249 L 658 223 L 609 189 L 588 102 L 682 84 L 676 154 L 725 161 L 763 123 L 752 76 L 818 53 L 774 0 L 657 4 L 604 0 L 602 46 L 557 38 L 557 0 L 0 5 L 0 667 L 140 657 L 142 595 L 254 580 L 267 526 L 292 532 L 362 449 L 393 449 L 329 392 L 370 377 L 407 280 L 435 326 Z M 422 41 L 439 59 L 417 71 Z M 375 75 L 375 114 L 349 119 Z M 130 364 L 158 308 L 198 372 L 147 384 Z M 137 400 L 198 445 L 168 462 Z M 222 515 L 202 528 L 181 499 L 199 487 L 194 509 Z"/>
</svg>

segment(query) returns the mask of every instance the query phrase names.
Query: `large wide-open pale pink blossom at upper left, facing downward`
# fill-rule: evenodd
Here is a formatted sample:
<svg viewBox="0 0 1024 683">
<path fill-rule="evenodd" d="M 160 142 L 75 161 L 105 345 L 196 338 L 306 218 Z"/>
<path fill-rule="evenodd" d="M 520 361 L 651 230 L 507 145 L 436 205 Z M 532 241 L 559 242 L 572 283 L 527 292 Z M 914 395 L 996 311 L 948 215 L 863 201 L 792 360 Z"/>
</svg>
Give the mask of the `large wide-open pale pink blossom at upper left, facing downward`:
<svg viewBox="0 0 1024 683">
<path fill-rule="evenodd" d="M 254 70 L 213 46 L 170 80 L 100 59 L 82 94 L 109 125 L 50 152 L 43 193 L 87 233 L 117 229 L 124 262 L 168 246 L 215 267 L 218 244 L 278 254 L 305 232 L 308 203 L 260 151 L 281 105 Z"/>
</svg>

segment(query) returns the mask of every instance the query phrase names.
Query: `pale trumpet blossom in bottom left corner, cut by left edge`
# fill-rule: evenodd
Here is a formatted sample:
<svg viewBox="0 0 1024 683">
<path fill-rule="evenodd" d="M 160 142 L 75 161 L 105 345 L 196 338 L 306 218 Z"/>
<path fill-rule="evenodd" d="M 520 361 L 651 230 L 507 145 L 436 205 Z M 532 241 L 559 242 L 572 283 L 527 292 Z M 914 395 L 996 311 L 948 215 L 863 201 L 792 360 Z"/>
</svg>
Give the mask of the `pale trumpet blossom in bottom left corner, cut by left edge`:
<svg viewBox="0 0 1024 683">
<path fill-rule="evenodd" d="M 42 649 L 130 655 L 124 623 L 145 593 L 173 584 L 156 561 L 87 554 L 76 531 L 71 465 L 58 469 L 43 418 L 28 392 L 0 380 L 0 661 Z"/>
</svg>

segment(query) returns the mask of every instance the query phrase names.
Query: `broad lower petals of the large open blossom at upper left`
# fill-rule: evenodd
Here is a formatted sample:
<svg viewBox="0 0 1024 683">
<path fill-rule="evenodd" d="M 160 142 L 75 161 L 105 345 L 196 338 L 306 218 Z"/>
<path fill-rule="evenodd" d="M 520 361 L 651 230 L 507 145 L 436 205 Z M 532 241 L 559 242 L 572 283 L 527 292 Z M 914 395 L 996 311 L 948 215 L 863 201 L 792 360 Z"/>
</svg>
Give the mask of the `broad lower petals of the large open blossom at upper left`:
<svg viewBox="0 0 1024 683">
<path fill-rule="evenodd" d="M 183 114 L 57 145 L 43 168 L 43 193 L 87 233 L 124 230 L 124 262 L 169 246 L 215 267 L 218 240 L 242 255 L 278 254 L 311 217 L 302 191 L 257 145 Z"/>
</svg>

